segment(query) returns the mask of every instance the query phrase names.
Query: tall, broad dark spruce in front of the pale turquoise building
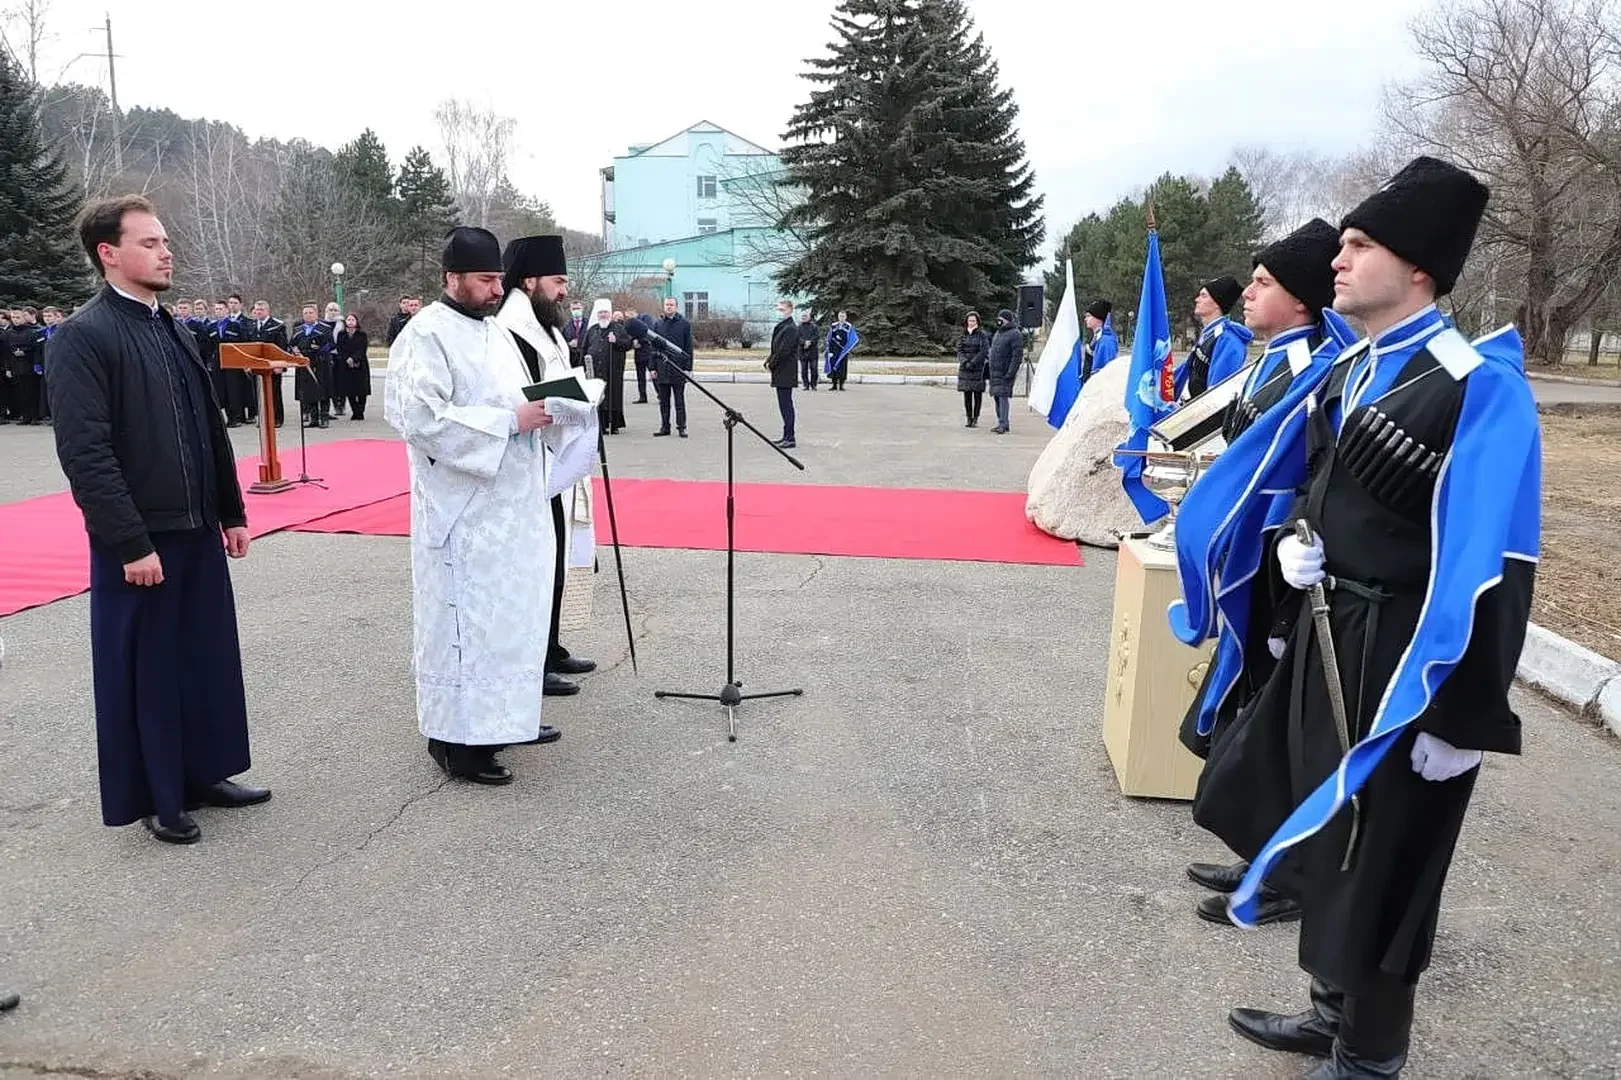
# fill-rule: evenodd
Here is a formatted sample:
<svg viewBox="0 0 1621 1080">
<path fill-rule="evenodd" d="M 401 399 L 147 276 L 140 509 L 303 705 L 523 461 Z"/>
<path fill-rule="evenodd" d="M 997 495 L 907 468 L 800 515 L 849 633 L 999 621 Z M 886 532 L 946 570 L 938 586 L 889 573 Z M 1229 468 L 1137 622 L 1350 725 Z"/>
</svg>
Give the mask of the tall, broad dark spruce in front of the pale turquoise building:
<svg viewBox="0 0 1621 1080">
<path fill-rule="evenodd" d="M 786 131 L 809 250 L 778 282 L 848 310 L 874 354 L 939 352 L 1037 258 L 1018 109 L 960 0 L 843 0 L 833 29 Z"/>
</svg>

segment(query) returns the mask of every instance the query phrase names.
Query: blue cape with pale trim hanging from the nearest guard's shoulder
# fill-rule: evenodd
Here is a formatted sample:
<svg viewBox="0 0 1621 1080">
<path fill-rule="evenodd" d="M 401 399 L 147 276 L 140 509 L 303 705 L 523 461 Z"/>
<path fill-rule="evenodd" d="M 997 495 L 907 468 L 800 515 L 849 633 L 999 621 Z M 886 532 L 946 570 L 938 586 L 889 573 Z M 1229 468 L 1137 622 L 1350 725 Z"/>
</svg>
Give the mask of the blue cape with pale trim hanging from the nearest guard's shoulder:
<svg viewBox="0 0 1621 1080">
<path fill-rule="evenodd" d="M 1430 585 L 1418 626 L 1368 735 L 1272 834 L 1229 898 L 1227 915 L 1238 926 L 1255 926 L 1261 882 L 1277 859 L 1328 825 L 1402 730 L 1430 707 L 1469 649 L 1475 608 L 1503 579 L 1504 561 L 1540 558 L 1542 430 L 1525 381 L 1524 347 L 1508 326 L 1477 341 L 1475 350 L 1482 363 L 1467 376 L 1430 508 Z"/>
</svg>

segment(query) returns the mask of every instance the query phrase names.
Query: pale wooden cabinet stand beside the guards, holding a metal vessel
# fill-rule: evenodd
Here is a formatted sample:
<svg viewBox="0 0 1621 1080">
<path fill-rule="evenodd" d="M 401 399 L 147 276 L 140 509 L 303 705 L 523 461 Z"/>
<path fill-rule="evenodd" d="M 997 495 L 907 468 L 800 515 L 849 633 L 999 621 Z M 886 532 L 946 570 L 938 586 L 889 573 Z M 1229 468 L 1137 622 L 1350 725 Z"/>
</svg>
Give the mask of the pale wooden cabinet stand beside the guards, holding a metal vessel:
<svg viewBox="0 0 1621 1080">
<path fill-rule="evenodd" d="M 1165 608 L 1180 597 L 1172 551 L 1120 542 L 1104 748 L 1125 795 L 1191 799 L 1204 767 L 1177 735 L 1204 681 L 1211 645 L 1190 649 L 1170 632 Z"/>
</svg>

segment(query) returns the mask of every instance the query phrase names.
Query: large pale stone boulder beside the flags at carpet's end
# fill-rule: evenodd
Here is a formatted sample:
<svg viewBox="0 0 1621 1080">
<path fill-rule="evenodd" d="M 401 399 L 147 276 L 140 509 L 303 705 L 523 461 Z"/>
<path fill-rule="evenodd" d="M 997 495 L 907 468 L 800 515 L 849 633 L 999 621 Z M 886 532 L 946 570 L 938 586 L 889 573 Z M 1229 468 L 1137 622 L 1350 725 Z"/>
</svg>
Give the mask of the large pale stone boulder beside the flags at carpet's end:
<svg viewBox="0 0 1621 1080">
<path fill-rule="evenodd" d="M 1115 548 L 1122 532 L 1144 527 L 1120 488 L 1120 470 L 1114 464 L 1114 448 L 1131 430 L 1125 414 L 1130 373 L 1131 363 L 1122 355 L 1093 375 L 1029 470 L 1024 517 L 1042 532 Z"/>
</svg>

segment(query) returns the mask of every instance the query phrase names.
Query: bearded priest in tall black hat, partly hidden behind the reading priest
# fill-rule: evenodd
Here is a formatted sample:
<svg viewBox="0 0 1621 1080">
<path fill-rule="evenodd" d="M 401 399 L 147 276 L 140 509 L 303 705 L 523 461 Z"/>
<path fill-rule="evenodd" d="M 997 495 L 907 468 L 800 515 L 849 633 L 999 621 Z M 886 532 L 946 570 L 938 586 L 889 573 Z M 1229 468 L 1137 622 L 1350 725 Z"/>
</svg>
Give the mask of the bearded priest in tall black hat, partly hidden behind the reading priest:
<svg viewBox="0 0 1621 1080">
<path fill-rule="evenodd" d="M 517 341 L 524 362 L 535 381 L 545 383 L 579 373 L 569 358 L 564 337 L 569 298 L 567 261 L 562 253 L 562 237 L 520 237 L 507 245 L 506 300 L 496 315 L 496 323 Z M 606 303 L 606 302 L 601 302 Z M 585 337 L 582 337 L 585 341 Z M 582 345 L 584 349 L 584 345 Z M 590 352 L 590 349 L 585 349 Z M 553 537 L 556 563 L 553 572 L 551 626 L 546 634 L 546 694 L 567 696 L 580 692 L 579 683 L 564 675 L 585 675 L 597 670 L 595 660 L 577 657 L 559 641 L 562 629 L 562 600 L 566 589 L 588 590 L 590 571 L 597 561 L 597 535 L 592 525 L 592 482 L 597 465 L 600 417 L 582 402 L 561 399 L 554 402 L 556 426 L 546 431 L 546 448 L 551 457 L 546 464 L 548 491 L 553 495 Z M 571 571 L 585 571 L 571 572 Z M 569 594 L 571 605 L 574 595 Z M 582 603 L 574 606 L 585 606 Z"/>
</svg>

